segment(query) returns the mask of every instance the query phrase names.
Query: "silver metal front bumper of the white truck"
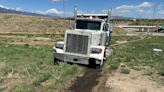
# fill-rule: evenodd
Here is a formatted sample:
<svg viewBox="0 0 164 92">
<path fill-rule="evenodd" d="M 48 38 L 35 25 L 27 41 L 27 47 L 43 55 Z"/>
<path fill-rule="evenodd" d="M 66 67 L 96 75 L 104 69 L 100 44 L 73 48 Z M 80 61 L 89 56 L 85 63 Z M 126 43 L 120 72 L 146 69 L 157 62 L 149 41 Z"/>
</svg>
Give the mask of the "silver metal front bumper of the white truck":
<svg viewBox="0 0 164 92">
<path fill-rule="evenodd" d="M 88 57 L 80 57 L 80 56 L 73 56 L 73 55 L 66 55 L 61 53 L 54 53 L 54 58 L 58 60 L 62 60 L 64 62 L 72 62 L 72 63 L 78 63 L 78 64 L 89 64 L 89 58 Z"/>
</svg>

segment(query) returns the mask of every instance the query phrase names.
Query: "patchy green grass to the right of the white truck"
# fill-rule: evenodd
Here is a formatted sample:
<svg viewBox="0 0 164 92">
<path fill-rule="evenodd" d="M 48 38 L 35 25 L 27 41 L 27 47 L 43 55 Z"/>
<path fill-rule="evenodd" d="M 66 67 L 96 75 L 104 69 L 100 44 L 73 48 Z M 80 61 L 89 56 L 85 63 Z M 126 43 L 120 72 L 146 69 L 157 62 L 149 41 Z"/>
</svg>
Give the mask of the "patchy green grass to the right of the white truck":
<svg viewBox="0 0 164 92">
<path fill-rule="evenodd" d="M 116 41 L 140 39 L 141 36 L 111 38 L 111 44 Z M 148 36 L 138 42 L 113 47 L 114 56 L 105 64 L 107 73 L 114 73 L 120 66 L 123 74 L 130 74 L 130 70 L 144 71 L 143 75 L 151 76 L 151 80 L 164 85 L 164 52 L 153 52 L 154 48 L 164 50 L 163 37 Z"/>
</svg>

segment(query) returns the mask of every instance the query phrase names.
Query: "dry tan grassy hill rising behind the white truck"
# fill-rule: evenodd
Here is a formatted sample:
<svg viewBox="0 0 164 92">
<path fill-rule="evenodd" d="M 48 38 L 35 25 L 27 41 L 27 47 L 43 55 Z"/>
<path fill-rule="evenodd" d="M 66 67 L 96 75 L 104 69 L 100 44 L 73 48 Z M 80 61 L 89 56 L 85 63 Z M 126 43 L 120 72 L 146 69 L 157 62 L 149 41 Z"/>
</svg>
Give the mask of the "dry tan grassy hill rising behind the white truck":
<svg viewBox="0 0 164 92">
<path fill-rule="evenodd" d="M 64 33 L 70 20 L 34 17 L 17 14 L 0 14 L 0 32 L 28 32 L 28 33 Z M 72 21 L 72 26 L 74 21 Z M 65 25 L 65 29 L 64 29 Z M 113 34 L 130 33 L 121 28 L 114 28 Z"/>
</svg>

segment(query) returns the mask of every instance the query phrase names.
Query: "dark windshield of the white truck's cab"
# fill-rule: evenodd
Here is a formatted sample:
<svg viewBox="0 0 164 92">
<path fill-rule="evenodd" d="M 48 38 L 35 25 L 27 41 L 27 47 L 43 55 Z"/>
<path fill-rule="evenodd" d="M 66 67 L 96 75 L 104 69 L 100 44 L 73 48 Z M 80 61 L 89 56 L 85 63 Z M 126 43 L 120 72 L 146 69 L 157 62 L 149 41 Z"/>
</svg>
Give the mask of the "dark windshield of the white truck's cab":
<svg viewBox="0 0 164 92">
<path fill-rule="evenodd" d="M 77 29 L 100 30 L 101 27 L 101 22 L 77 20 L 76 23 Z"/>
</svg>

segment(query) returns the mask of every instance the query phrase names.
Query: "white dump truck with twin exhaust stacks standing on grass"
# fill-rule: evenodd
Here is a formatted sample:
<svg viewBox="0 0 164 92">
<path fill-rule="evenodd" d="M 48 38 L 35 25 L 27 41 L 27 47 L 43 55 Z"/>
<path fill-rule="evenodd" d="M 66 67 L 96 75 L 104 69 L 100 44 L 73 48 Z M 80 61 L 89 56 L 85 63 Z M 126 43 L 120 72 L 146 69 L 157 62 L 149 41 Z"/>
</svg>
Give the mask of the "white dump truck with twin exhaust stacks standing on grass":
<svg viewBox="0 0 164 92">
<path fill-rule="evenodd" d="M 101 67 L 104 60 L 113 54 L 109 47 L 113 24 L 108 14 L 77 14 L 75 6 L 75 24 L 65 31 L 64 41 L 54 44 L 54 64 L 57 61 Z"/>
</svg>

